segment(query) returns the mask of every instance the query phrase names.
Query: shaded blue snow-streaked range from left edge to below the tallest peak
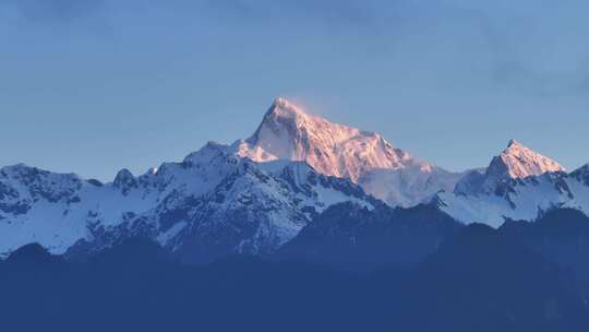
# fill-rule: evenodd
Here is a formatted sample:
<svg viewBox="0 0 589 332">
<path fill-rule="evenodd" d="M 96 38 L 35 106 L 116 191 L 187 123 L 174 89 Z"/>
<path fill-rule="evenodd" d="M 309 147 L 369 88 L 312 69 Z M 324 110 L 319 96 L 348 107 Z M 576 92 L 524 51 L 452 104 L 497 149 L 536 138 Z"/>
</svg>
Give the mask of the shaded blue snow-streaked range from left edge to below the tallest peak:
<svg viewBox="0 0 589 332">
<path fill-rule="evenodd" d="M 0 254 L 39 242 L 52 253 L 84 256 L 136 237 L 156 240 L 185 260 L 264 253 L 332 204 L 374 203 L 349 180 L 306 164 L 262 167 L 227 149 L 211 143 L 182 163 L 140 177 L 123 169 L 99 186 L 24 165 L 2 168 Z"/>
</svg>

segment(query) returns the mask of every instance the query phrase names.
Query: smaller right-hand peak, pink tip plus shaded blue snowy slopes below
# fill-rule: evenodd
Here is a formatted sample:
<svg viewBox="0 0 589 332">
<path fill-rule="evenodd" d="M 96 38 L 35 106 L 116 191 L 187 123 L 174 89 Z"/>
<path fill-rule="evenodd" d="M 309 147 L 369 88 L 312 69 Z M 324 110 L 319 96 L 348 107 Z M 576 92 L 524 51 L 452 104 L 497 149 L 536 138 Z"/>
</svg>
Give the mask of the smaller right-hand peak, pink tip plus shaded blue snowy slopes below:
<svg viewBox="0 0 589 332">
<path fill-rule="evenodd" d="M 486 170 L 468 174 L 454 193 L 440 193 L 437 200 L 461 222 L 495 227 L 505 220 L 533 221 L 558 208 L 588 213 L 589 186 L 582 169 L 566 174 L 558 163 L 512 141 Z"/>
</svg>

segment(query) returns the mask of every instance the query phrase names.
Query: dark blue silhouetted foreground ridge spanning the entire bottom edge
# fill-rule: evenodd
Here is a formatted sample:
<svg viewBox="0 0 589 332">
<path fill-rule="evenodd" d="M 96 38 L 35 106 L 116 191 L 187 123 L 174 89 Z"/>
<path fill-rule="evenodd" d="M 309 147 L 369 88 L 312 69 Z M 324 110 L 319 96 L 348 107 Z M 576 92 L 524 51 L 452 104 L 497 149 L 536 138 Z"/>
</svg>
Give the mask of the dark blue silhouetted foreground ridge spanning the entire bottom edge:
<svg viewBox="0 0 589 332">
<path fill-rule="evenodd" d="M 486 226 L 455 229 L 422 263 L 398 266 L 357 275 L 244 256 L 184 265 L 143 241 L 62 261 L 31 246 L 0 262 L 0 315 L 7 331 L 589 328 L 587 305 L 566 271 Z"/>
</svg>

